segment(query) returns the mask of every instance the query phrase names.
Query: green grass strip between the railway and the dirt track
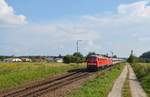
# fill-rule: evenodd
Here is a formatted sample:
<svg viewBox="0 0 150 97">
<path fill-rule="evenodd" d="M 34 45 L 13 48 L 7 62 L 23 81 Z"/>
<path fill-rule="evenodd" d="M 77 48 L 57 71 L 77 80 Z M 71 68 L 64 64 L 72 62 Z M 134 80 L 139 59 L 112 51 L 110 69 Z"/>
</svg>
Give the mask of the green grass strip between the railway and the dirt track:
<svg viewBox="0 0 150 97">
<path fill-rule="evenodd" d="M 87 81 L 79 90 L 72 92 L 67 97 L 107 97 L 113 86 L 113 82 L 120 75 L 124 65 L 116 65 L 112 70 L 98 74 Z"/>
</svg>

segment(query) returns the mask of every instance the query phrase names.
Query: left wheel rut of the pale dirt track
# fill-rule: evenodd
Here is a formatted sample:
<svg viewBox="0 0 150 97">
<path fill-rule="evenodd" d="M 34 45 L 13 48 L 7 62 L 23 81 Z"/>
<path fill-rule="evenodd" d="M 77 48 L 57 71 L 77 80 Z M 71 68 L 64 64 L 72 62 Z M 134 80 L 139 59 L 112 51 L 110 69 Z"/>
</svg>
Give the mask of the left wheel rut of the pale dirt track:
<svg viewBox="0 0 150 97">
<path fill-rule="evenodd" d="M 122 87 L 125 82 L 125 79 L 127 77 L 127 72 L 128 72 L 128 70 L 127 70 L 127 65 L 126 65 L 124 67 L 122 73 L 118 77 L 118 79 L 115 81 L 112 90 L 108 94 L 108 97 L 121 97 L 121 91 L 122 91 Z"/>
</svg>

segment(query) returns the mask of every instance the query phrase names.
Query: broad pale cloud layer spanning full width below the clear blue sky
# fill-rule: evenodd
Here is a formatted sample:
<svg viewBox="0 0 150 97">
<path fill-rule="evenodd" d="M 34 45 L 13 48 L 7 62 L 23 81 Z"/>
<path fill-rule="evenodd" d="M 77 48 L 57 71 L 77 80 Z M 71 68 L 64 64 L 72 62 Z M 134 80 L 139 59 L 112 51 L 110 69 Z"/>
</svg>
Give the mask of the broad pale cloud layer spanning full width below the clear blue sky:
<svg viewBox="0 0 150 97">
<path fill-rule="evenodd" d="M 65 22 L 1 28 L 0 54 L 68 54 L 76 51 L 76 40 L 80 39 L 83 41 L 79 48 L 84 54 L 113 51 L 128 56 L 134 49 L 140 55 L 150 48 L 146 45 L 150 37 L 148 4 L 148 1 L 121 4 L 116 7 L 117 13 L 109 16 L 83 15 L 64 19 Z"/>
</svg>

